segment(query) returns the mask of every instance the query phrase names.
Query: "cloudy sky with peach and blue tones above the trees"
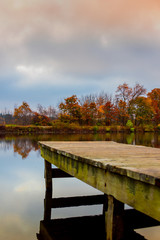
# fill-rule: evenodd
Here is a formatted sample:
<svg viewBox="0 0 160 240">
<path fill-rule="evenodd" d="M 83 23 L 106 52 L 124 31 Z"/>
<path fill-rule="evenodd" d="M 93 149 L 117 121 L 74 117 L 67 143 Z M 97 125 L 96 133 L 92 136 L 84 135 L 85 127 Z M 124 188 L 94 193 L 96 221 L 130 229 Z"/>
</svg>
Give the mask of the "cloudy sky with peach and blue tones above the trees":
<svg viewBox="0 0 160 240">
<path fill-rule="evenodd" d="M 1 0 L 0 111 L 160 88 L 159 0 Z"/>
</svg>

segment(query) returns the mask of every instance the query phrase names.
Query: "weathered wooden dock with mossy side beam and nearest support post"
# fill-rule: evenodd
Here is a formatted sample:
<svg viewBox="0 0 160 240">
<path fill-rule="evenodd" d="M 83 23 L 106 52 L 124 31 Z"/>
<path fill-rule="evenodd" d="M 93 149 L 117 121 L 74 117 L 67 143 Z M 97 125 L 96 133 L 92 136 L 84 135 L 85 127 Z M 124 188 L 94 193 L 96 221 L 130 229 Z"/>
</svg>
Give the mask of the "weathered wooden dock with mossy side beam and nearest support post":
<svg viewBox="0 0 160 240">
<path fill-rule="evenodd" d="M 124 204 L 160 221 L 160 149 L 102 141 L 40 146 L 47 162 L 107 195 L 107 240 L 124 237 Z"/>
</svg>

